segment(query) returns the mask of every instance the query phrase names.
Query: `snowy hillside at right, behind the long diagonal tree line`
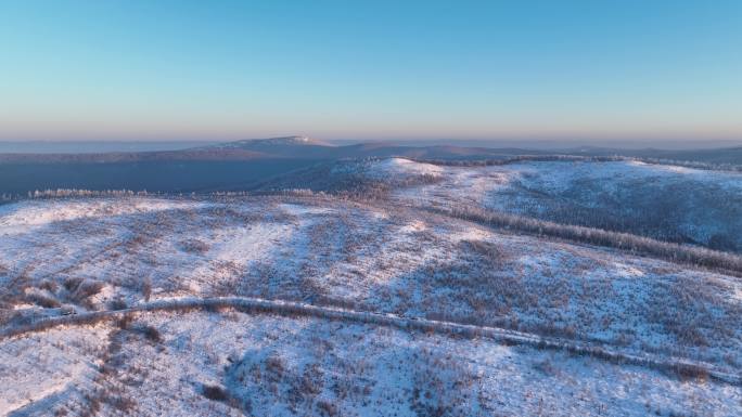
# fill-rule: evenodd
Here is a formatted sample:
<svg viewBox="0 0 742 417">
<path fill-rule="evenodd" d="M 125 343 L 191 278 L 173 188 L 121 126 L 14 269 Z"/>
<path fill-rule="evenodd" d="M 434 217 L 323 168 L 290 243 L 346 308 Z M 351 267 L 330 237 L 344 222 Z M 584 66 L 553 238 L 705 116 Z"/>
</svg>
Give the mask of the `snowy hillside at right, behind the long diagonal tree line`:
<svg viewBox="0 0 742 417">
<path fill-rule="evenodd" d="M 638 161 L 451 167 L 402 158 L 336 162 L 340 184 L 389 181 L 415 205 L 471 205 L 558 223 L 742 251 L 742 174 Z M 354 172 L 354 181 L 340 173 Z M 399 178 L 427 181 L 400 183 Z M 329 183 L 328 180 L 324 183 Z M 332 190 L 331 186 L 324 186 Z"/>
</svg>

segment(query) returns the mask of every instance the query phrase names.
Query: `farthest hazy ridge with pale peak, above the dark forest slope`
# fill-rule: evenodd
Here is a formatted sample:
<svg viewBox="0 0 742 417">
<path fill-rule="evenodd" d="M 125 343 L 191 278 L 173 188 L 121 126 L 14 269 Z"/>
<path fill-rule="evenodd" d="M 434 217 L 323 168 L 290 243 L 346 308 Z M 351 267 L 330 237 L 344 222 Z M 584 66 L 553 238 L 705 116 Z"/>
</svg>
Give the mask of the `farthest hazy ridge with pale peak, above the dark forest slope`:
<svg viewBox="0 0 742 417">
<path fill-rule="evenodd" d="M 368 142 L 335 145 L 307 136 L 282 136 L 202 145 L 176 151 L 104 153 L 0 153 L 0 162 L 146 162 L 146 161 L 239 161 L 256 159 L 341 159 L 401 156 L 419 159 L 488 159 L 512 155 L 623 155 L 644 158 L 693 160 L 711 164 L 742 164 L 742 146 L 708 149 L 656 149 L 579 146 L 534 151 L 520 147 L 415 145 Z"/>
</svg>

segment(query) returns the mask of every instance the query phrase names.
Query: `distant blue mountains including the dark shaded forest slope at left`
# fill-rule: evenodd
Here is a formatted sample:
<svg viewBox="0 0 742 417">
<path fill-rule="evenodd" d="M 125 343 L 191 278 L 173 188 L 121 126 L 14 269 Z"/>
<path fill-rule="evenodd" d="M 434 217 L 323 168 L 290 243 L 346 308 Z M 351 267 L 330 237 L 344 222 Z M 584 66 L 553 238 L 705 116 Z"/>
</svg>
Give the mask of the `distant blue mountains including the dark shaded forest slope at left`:
<svg viewBox="0 0 742 417">
<path fill-rule="evenodd" d="M 99 153 L 0 153 L 0 195 L 47 188 L 201 192 L 252 190 L 271 178 L 351 158 L 504 159 L 514 155 L 584 155 L 742 165 L 742 146 L 716 149 L 519 147 L 369 142 L 338 145 L 307 136 L 206 144 L 181 149 Z"/>
</svg>

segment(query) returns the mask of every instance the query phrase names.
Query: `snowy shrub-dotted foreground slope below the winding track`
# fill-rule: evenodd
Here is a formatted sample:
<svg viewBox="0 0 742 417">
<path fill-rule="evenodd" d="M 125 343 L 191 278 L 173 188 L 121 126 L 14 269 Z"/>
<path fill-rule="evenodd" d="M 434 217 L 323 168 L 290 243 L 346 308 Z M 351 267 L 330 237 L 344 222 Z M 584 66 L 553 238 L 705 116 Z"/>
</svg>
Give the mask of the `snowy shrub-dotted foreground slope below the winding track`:
<svg viewBox="0 0 742 417">
<path fill-rule="evenodd" d="M 13 363 L 0 409 L 26 416 L 733 416 L 742 401 L 740 387 L 589 356 L 234 312 L 51 330 L 0 352 Z"/>
</svg>

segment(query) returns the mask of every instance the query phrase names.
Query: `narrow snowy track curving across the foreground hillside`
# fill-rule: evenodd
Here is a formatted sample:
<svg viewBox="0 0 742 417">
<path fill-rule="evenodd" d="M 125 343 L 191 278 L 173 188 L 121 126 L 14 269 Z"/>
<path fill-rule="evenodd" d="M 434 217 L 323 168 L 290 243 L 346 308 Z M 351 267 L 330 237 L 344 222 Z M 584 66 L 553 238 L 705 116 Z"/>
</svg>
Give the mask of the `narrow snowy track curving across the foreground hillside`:
<svg viewBox="0 0 742 417">
<path fill-rule="evenodd" d="M 396 327 L 402 330 L 427 331 L 445 336 L 465 338 L 487 338 L 508 344 L 522 344 L 536 349 L 566 351 L 588 355 L 604 361 L 643 366 L 685 377 L 709 377 L 714 380 L 742 385 L 742 374 L 719 369 L 711 364 L 653 353 L 626 353 L 618 350 L 574 340 L 542 337 L 534 334 L 509 330 L 498 327 L 474 326 L 426 318 L 405 317 L 397 314 L 381 314 L 318 307 L 302 302 L 266 300 L 244 297 L 219 298 L 174 298 L 136 304 L 123 310 L 110 310 L 42 318 L 29 325 L 0 330 L 0 340 L 43 331 L 53 327 L 80 326 L 113 321 L 126 315 L 158 311 L 219 311 L 236 310 L 251 314 L 277 314 L 282 316 L 316 317 L 346 323 L 372 324 Z"/>
</svg>

